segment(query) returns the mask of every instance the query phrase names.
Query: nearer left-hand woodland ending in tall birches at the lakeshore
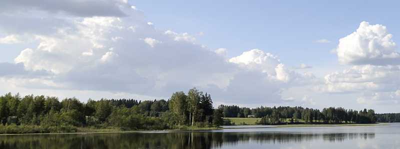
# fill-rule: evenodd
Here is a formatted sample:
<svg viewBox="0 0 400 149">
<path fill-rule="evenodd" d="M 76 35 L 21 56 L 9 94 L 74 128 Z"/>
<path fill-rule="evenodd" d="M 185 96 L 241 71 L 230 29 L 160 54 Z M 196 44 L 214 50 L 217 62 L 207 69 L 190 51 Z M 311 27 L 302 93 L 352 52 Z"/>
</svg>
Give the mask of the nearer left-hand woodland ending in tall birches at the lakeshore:
<svg viewBox="0 0 400 149">
<path fill-rule="evenodd" d="M 73 132 L 78 127 L 181 129 L 222 124 L 222 112 L 214 110 L 210 94 L 192 88 L 175 92 L 170 99 L 89 99 L 44 95 L 0 96 L 0 133 Z"/>
</svg>

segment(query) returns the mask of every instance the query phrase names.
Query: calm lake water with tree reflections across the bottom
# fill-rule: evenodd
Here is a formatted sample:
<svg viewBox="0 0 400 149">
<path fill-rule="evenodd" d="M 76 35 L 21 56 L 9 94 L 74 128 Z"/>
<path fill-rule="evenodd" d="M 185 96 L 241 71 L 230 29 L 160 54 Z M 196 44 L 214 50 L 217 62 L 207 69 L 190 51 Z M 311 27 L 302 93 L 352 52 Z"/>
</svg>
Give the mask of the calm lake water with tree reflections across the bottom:
<svg viewBox="0 0 400 149">
<path fill-rule="evenodd" d="M 400 123 L 196 132 L 3 135 L 0 148 L 400 148 Z"/>
</svg>

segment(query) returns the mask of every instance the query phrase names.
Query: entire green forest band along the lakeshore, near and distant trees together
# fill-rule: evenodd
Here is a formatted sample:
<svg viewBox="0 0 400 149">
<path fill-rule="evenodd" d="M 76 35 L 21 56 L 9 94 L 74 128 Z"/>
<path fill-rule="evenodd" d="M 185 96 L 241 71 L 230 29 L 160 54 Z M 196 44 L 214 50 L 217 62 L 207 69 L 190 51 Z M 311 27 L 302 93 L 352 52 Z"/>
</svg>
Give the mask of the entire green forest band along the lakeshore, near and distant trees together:
<svg viewBox="0 0 400 149">
<path fill-rule="evenodd" d="M 398 114 L 375 114 L 329 107 L 213 107 L 211 95 L 191 88 L 169 99 L 79 99 L 7 93 L 0 96 L 0 133 L 77 132 L 80 128 L 153 130 L 193 129 L 231 124 L 223 117 L 258 117 L 258 124 L 375 123 L 398 121 Z"/>
</svg>

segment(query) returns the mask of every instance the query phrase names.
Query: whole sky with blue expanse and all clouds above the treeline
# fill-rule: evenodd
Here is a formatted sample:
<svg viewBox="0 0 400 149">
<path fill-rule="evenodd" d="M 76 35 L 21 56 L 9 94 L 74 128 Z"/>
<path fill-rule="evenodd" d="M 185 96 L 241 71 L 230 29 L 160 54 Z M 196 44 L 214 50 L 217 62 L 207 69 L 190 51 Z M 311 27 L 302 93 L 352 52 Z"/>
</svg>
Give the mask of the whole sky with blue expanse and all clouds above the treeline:
<svg viewBox="0 0 400 149">
<path fill-rule="evenodd" d="M 2 0 L 0 93 L 400 112 L 398 4 Z"/>
</svg>

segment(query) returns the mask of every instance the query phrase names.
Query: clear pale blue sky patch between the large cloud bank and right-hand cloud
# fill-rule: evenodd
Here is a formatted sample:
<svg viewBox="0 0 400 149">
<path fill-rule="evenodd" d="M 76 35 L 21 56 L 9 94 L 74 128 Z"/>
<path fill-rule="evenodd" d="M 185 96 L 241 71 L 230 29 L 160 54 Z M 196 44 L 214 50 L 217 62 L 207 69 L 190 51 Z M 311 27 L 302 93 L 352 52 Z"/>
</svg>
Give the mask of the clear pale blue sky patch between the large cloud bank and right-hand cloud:
<svg viewBox="0 0 400 149">
<path fill-rule="evenodd" d="M 397 2 L 376 0 L 132 0 L 157 28 L 198 33 L 201 43 L 230 56 L 260 48 L 288 64 L 337 64 L 329 51 L 361 21 L 385 24 L 400 34 Z M 390 4 L 389 4 L 390 3 Z M 328 39 L 326 44 L 315 43 Z"/>
</svg>

